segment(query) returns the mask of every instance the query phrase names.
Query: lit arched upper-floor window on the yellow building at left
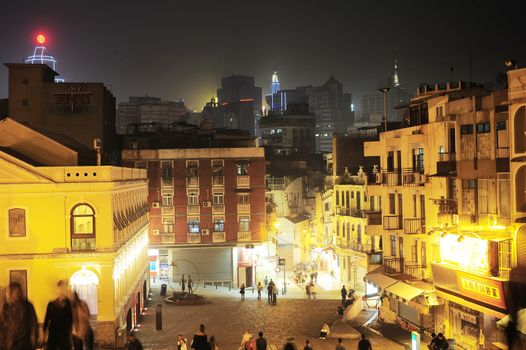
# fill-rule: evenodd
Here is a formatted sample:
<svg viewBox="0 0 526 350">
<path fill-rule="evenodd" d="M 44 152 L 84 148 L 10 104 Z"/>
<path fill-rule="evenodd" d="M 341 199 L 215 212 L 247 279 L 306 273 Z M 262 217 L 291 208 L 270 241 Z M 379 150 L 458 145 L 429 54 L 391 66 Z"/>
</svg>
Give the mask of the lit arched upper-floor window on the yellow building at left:
<svg viewBox="0 0 526 350">
<path fill-rule="evenodd" d="M 95 211 L 88 204 L 78 204 L 71 210 L 71 249 L 95 249 Z"/>
</svg>

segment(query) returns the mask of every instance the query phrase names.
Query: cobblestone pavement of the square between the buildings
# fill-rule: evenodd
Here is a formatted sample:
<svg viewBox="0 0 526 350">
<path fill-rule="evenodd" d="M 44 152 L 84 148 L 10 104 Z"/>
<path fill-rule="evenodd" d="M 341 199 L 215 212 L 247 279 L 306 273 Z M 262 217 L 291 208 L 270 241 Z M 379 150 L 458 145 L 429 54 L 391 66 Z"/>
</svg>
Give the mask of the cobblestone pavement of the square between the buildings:
<svg viewBox="0 0 526 350">
<path fill-rule="evenodd" d="M 199 290 L 210 303 L 195 306 L 173 306 L 163 303 L 163 330 L 155 330 L 155 305 L 162 301 L 158 287 L 152 288 L 153 296 L 148 310 L 137 332 L 146 349 L 175 349 L 178 334 L 191 341 L 193 332 L 203 323 L 208 335 L 215 335 L 221 350 L 237 350 L 245 330 L 257 334 L 265 333 L 270 344 L 283 348 L 289 337 L 294 337 L 301 350 L 306 339 L 314 349 L 334 349 L 335 339 L 319 340 L 319 329 L 323 321 L 332 323 L 338 316 L 338 302 L 332 300 L 294 299 L 294 293 L 278 299 L 277 305 L 270 305 L 265 299 L 255 299 L 250 292 L 245 301 L 239 300 L 239 293 L 228 288 Z M 335 291 L 338 293 L 338 291 Z M 301 295 L 301 294 L 298 294 Z M 403 349 L 385 338 L 371 333 L 374 349 Z M 299 346 L 301 345 L 301 347 Z M 357 341 L 344 340 L 347 349 L 356 349 Z"/>
</svg>

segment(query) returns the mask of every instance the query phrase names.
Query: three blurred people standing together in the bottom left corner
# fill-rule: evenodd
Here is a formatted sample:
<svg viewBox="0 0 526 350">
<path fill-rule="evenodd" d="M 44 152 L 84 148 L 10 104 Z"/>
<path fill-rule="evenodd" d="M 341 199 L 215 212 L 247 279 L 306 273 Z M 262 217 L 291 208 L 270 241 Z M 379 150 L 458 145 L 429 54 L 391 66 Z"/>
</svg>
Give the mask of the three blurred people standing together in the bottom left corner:
<svg viewBox="0 0 526 350">
<path fill-rule="evenodd" d="M 33 304 L 26 299 L 19 283 L 9 285 L 9 298 L 0 306 L 0 350 L 32 350 L 40 344 L 46 344 L 48 350 L 93 349 L 88 305 L 68 288 L 67 281 L 61 280 L 57 286 L 59 296 L 47 305 L 44 338 L 39 342 Z"/>
</svg>

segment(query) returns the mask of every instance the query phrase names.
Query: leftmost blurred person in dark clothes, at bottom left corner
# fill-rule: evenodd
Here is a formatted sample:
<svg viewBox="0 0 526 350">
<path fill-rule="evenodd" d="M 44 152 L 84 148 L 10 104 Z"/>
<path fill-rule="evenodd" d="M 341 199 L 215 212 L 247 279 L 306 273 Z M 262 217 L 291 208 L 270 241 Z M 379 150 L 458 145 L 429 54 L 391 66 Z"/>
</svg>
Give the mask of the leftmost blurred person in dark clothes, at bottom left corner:
<svg viewBox="0 0 526 350">
<path fill-rule="evenodd" d="M 8 287 L 9 300 L 0 305 L 0 349 L 34 350 L 38 343 L 35 308 L 18 282 Z"/>
</svg>

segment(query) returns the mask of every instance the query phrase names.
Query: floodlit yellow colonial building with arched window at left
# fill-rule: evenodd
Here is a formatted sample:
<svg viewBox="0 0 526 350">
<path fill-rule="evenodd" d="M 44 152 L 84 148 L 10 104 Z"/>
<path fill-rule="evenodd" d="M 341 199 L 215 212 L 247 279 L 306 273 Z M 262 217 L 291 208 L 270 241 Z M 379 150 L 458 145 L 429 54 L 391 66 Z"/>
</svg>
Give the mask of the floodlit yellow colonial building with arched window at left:
<svg viewBox="0 0 526 350">
<path fill-rule="evenodd" d="M 67 279 L 98 344 L 123 345 L 149 289 L 146 171 L 78 166 L 79 152 L 10 119 L 0 135 L 0 286 L 20 282 L 42 322 Z"/>
</svg>

